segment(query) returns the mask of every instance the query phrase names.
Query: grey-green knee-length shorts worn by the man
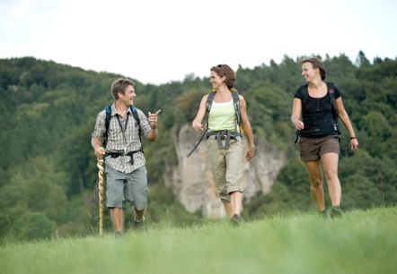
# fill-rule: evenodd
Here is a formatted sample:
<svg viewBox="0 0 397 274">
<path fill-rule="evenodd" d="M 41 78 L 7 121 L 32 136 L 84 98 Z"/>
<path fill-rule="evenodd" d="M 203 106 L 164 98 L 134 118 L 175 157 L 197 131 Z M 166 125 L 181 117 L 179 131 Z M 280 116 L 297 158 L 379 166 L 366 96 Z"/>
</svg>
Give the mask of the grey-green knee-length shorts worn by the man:
<svg viewBox="0 0 397 274">
<path fill-rule="evenodd" d="M 111 167 L 105 167 L 106 201 L 108 208 L 122 208 L 127 200 L 136 210 L 145 210 L 147 206 L 147 171 L 139 167 L 131 173 L 124 174 Z"/>
</svg>

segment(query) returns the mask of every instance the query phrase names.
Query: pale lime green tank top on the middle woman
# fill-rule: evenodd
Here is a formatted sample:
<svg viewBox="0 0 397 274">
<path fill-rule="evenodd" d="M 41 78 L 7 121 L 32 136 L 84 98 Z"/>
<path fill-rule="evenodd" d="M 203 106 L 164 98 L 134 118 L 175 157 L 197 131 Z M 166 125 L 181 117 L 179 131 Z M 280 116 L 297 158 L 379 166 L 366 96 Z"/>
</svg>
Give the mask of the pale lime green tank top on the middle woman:
<svg viewBox="0 0 397 274">
<path fill-rule="evenodd" d="M 208 116 L 208 131 L 210 133 L 223 130 L 234 132 L 236 130 L 234 120 L 233 99 L 226 103 L 213 102 Z"/>
</svg>

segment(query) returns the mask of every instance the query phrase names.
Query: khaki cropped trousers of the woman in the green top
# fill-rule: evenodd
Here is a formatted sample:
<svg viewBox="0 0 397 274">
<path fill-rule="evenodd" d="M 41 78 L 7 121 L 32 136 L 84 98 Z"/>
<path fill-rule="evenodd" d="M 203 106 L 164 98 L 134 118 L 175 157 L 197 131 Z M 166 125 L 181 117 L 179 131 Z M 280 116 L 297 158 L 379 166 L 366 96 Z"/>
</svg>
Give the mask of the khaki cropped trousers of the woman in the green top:
<svg viewBox="0 0 397 274">
<path fill-rule="evenodd" d="M 230 140 L 230 147 L 225 150 L 219 148 L 215 136 L 210 136 L 207 149 L 219 198 L 222 202 L 229 202 L 230 193 L 243 192 L 240 187 L 243 176 L 243 141 L 240 137 Z"/>
</svg>

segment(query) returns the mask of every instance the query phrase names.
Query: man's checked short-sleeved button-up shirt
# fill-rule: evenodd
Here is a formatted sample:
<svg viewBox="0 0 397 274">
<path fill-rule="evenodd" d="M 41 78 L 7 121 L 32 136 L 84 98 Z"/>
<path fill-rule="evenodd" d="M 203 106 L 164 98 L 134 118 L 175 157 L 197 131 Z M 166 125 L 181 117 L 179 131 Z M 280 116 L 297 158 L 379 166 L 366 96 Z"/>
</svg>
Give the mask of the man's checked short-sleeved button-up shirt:
<svg viewBox="0 0 397 274">
<path fill-rule="evenodd" d="M 137 121 L 131 113 L 131 109 L 128 107 L 127 116 L 123 119 L 116 113 L 116 108 L 111 105 L 111 118 L 109 125 L 109 137 L 108 144 L 106 145 L 106 152 L 124 152 L 128 153 L 129 151 L 139 150 L 141 148 L 141 142 L 139 141 L 139 129 L 137 125 Z M 141 126 L 141 134 L 147 138 L 148 133 L 151 130 L 149 121 L 145 114 L 137 109 L 137 114 L 139 116 L 140 126 Z M 105 110 L 102 110 L 98 116 L 96 117 L 95 127 L 93 129 L 93 138 L 98 138 L 103 141 L 103 134 L 105 133 Z M 126 132 L 124 136 L 127 140 L 124 139 L 123 133 L 119 126 L 119 121 L 117 119 L 119 116 L 119 121 L 123 127 L 123 130 L 126 126 L 126 121 L 128 121 Z M 120 156 L 117 158 L 111 158 L 110 156 L 105 158 L 105 163 L 107 166 L 116 169 L 124 174 L 128 174 L 136 170 L 138 167 L 145 166 L 145 156 L 142 152 L 137 152 L 133 155 L 134 157 L 134 166 L 131 165 L 129 156 Z"/>
</svg>

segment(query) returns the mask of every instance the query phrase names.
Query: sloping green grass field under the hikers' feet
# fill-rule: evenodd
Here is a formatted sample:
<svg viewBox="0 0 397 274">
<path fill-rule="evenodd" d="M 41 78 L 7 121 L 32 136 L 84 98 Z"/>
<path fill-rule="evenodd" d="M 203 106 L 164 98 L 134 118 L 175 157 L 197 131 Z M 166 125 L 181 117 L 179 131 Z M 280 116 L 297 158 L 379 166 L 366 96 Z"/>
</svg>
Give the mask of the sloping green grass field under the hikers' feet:
<svg viewBox="0 0 397 274">
<path fill-rule="evenodd" d="M 397 208 L 5 243 L 0 273 L 397 273 Z"/>
</svg>

